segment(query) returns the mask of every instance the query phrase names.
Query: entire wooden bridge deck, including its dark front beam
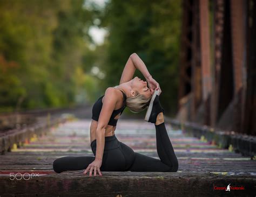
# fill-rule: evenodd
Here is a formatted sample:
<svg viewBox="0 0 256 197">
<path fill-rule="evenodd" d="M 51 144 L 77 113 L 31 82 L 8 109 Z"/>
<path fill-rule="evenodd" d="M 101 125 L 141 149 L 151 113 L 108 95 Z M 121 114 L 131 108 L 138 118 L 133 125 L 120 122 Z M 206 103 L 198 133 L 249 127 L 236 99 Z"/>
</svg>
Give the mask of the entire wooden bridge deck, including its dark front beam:
<svg viewBox="0 0 256 197">
<path fill-rule="evenodd" d="M 83 175 L 83 171 L 56 174 L 52 169 L 56 158 L 93 156 L 89 126 L 89 119 L 59 124 L 48 135 L 0 156 L 0 184 L 4 188 L 0 195 L 247 196 L 255 190 L 255 160 L 220 149 L 205 140 L 186 136 L 167 123 L 166 129 L 179 161 L 177 173 L 102 172 L 103 177 L 89 177 Z M 153 124 L 120 120 L 116 136 L 135 152 L 159 159 L 155 132 Z M 26 173 L 25 178 L 29 178 L 27 173 L 35 172 L 39 173 L 39 177 L 10 180 L 10 173 Z M 244 186 L 245 190 L 214 190 L 214 186 L 226 187 L 228 184 Z"/>
</svg>

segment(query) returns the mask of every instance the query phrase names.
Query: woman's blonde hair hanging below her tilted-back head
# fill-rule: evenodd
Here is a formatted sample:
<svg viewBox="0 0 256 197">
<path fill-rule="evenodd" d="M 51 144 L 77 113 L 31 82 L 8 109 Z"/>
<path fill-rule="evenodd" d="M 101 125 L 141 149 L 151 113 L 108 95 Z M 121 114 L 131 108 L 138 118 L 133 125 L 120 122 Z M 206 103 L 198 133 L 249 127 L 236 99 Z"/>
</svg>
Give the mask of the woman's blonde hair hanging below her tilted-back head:
<svg viewBox="0 0 256 197">
<path fill-rule="evenodd" d="M 138 113 L 140 111 L 145 110 L 147 107 L 149 107 L 151 97 L 152 96 L 147 98 L 146 96 L 139 94 L 136 91 L 136 96 L 126 98 L 126 106 L 129 108 L 131 112 Z"/>
</svg>

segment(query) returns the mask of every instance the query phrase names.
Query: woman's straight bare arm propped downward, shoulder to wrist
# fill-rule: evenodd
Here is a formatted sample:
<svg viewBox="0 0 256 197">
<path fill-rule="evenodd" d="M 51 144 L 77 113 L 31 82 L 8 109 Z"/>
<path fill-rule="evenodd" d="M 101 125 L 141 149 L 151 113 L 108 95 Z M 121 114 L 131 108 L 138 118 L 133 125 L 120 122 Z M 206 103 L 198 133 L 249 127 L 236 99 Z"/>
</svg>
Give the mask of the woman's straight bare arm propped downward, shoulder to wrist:
<svg viewBox="0 0 256 197">
<path fill-rule="evenodd" d="M 118 101 L 118 96 L 116 95 L 116 90 L 114 88 L 107 88 L 104 96 L 104 103 L 102 106 L 102 110 L 99 114 L 98 126 L 96 129 L 96 160 L 102 160 L 103 151 L 105 146 L 105 129 L 107 124 L 109 123 L 111 114 L 116 106 Z"/>
</svg>

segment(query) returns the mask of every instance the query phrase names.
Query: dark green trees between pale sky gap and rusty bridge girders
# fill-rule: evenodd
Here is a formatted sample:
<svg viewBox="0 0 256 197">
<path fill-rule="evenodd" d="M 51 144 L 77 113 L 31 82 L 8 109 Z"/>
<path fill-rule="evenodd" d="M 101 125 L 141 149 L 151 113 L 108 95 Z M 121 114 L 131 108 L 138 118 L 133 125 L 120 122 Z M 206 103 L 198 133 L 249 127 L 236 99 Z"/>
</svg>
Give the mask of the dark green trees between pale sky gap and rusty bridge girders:
<svg viewBox="0 0 256 197">
<path fill-rule="evenodd" d="M 105 42 L 103 88 L 119 84 L 130 54 L 136 52 L 161 87 L 161 103 L 170 115 L 177 107 L 181 1 L 110 1 L 100 27 L 109 29 Z M 134 76 L 143 78 L 137 70 Z"/>
</svg>

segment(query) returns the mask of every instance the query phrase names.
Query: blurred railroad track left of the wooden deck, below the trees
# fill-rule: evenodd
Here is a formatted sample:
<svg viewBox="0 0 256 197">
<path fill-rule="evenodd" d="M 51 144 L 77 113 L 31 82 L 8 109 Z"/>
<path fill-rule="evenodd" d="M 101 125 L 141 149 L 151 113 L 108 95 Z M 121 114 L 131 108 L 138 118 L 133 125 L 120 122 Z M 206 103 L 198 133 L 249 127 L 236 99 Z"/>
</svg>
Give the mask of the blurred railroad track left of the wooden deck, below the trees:
<svg viewBox="0 0 256 197">
<path fill-rule="evenodd" d="M 0 153 L 5 154 L 29 143 L 37 136 L 45 135 L 49 128 L 70 118 L 89 117 L 90 112 L 89 105 L 84 105 L 74 108 L 51 108 L 1 114 Z"/>
</svg>

